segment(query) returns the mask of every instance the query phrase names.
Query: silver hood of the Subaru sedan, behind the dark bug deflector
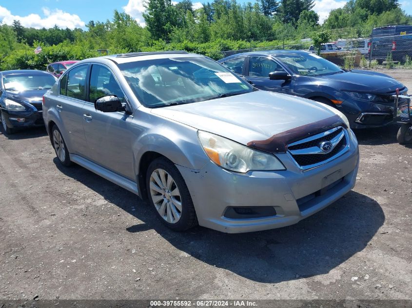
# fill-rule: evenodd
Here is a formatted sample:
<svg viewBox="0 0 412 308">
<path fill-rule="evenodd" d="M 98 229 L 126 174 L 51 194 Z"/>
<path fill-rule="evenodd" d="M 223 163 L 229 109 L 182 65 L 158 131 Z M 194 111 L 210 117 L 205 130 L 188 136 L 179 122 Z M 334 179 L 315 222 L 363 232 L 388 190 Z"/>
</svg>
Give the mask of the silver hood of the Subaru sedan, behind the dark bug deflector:
<svg viewBox="0 0 412 308">
<path fill-rule="evenodd" d="M 264 141 L 298 127 L 303 136 L 308 125 L 325 119 L 342 119 L 329 107 L 312 100 L 268 91 L 219 98 L 198 103 L 152 109 L 152 113 L 220 135 L 243 145 Z M 312 130 L 314 130 L 313 128 Z M 323 129 L 317 127 L 316 130 Z M 313 131 L 317 133 L 318 131 Z M 296 135 L 294 135 L 296 137 Z M 300 139 L 300 138 L 299 138 Z"/>
</svg>

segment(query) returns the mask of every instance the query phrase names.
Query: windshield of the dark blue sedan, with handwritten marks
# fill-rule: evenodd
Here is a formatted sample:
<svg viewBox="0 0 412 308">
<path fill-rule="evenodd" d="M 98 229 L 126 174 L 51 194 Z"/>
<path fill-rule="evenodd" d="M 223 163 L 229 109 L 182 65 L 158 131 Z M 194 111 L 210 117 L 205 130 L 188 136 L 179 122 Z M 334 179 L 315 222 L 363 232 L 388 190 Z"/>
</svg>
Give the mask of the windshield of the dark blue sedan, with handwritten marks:
<svg viewBox="0 0 412 308">
<path fill-rule="evenodd" d="M 281 54 L 276 58 L 299 75 L 324 76 L 344 72 L 337 65 L 316 54 Z"/>
</svg>

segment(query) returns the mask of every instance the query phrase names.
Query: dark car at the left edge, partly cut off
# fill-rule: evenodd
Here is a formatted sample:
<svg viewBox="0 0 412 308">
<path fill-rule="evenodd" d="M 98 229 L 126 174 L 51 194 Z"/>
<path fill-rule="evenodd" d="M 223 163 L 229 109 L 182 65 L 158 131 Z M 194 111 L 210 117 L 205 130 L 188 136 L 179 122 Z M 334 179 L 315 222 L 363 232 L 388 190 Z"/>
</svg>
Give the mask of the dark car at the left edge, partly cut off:
<svg viewBox="0 0 412 308">
<path fill-rule="evenodd" d="M 42 98 L 57 78 L 48 72 L 15 70 L 0 72 L 0 119 L 3 132 L 44 126 Z"/>
</svg>

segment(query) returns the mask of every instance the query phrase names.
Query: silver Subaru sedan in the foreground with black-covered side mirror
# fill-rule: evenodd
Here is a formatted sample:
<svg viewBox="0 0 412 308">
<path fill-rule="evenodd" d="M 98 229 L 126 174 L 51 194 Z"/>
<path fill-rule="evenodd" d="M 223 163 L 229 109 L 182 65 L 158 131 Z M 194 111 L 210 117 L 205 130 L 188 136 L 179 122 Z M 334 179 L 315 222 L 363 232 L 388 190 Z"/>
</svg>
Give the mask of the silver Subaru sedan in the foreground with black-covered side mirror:
<svg viewBox="0 0 412 308">
<path fill-rule="evenodd" d="M 176 231 L 294 224 L 349 192 L 358 170 L 340 111 L 186 52 L 80 61 L 44 95 L 43 118 L 61 164 L 148 200 Z"/>
</svg>

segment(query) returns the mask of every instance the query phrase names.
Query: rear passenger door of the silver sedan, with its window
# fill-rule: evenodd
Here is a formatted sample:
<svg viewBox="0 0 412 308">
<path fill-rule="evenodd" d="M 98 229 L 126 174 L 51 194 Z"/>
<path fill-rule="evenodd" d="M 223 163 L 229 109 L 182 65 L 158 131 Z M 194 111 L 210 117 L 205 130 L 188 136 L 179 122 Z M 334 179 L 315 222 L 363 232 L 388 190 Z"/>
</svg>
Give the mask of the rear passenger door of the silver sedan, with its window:
<svg viewBox="0 0 412 308">
<path fill-rule="evenodd" d="M 87 144 L 83 130 L 82 109 L 86 99 L 86 75 L 89 65 L 73 68 L 59 80 L 59 111 L 63 138 L 69 141 L 70 153 L 84 155 Z"/>
</svg>

